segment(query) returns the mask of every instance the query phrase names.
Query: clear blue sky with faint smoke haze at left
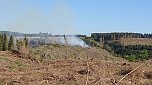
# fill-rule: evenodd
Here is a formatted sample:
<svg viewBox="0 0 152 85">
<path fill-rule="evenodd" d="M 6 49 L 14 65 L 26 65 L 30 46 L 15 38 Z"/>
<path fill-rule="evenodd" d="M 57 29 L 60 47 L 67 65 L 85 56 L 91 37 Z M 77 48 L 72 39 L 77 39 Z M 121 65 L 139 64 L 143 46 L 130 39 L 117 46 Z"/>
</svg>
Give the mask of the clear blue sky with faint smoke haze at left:
<svg viewBox="0 0 152 85">
<path fill-rule="evenodd" d="M 152 0 L 0 0 L 0 30 L 152 33 Z"/>
</svg>

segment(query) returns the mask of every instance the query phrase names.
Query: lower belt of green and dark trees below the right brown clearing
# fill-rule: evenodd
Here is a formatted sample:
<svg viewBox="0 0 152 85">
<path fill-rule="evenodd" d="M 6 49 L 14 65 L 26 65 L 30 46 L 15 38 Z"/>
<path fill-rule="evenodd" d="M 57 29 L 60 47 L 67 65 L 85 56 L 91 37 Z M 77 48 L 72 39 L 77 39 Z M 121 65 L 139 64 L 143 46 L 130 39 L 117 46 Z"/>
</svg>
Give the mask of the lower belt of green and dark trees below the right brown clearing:
<svg viewBox="0 0 152 85">
<path fill-rule="evenodd" d="M 127 45 L 124 46 L 120 42 L 105 43 L 104 49 L 121 56 L 129 61 L 138 61 L 152 58 L 152 45 Z"/>
</svg>

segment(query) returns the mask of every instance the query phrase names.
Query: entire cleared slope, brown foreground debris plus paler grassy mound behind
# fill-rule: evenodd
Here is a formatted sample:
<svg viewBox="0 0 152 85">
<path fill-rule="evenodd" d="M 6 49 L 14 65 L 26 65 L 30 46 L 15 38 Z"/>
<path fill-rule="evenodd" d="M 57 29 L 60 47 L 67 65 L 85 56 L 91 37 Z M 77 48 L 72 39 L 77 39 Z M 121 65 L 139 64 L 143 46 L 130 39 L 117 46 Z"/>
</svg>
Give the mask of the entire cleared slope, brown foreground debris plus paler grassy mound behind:
<svg viewBox="0 0 152 85">
<path fill-rule="evenodd" d="M 33 56 L 0 51 L 0 84 L 7 85 L 150 85 L 150 61 L 129 63 L 99 48 L 43 45 Z"/>
</svg>

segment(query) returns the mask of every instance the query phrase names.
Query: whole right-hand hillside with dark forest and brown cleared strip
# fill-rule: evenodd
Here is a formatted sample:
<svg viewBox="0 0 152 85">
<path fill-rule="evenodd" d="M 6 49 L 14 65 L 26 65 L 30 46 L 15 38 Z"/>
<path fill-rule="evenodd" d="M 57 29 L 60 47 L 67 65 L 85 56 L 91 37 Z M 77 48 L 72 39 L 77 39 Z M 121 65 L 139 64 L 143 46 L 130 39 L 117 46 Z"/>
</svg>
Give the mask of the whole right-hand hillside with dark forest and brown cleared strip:
<svg viewBox="0 0 152 85">
<path fill-rule="evenodd" d="M 100 46 L 111 54 L 127 59 L 130 62 L 152 58 L 152 34 L 128 32 L 92 33 L 90 39 L 98 43 L 98 47 Z M 94 43 L 91 44 L 94 46 Z"/>
</svg>

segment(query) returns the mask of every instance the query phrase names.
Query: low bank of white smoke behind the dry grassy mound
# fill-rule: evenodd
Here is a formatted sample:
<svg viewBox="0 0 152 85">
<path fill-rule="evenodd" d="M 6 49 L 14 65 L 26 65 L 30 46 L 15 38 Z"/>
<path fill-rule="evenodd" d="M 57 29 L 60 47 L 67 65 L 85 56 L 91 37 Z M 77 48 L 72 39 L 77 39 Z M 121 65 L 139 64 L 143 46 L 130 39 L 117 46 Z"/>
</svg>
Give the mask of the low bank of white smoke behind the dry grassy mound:
<svg viewBox="0 0 152 85">
<path fill-rule="evenodd" d="M 27 37 L 30 45 L 37 46 L 39 44 L 60 44 L 70 46 L 89 47 L 82 39 L 76 35 L 60 36 L 60 37 Z M 24 39 L 24 37 L 15 37 L 15 39 Z M 32 43 L 32 44 L 31 44 Z"/>
</svg>

